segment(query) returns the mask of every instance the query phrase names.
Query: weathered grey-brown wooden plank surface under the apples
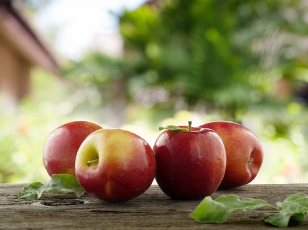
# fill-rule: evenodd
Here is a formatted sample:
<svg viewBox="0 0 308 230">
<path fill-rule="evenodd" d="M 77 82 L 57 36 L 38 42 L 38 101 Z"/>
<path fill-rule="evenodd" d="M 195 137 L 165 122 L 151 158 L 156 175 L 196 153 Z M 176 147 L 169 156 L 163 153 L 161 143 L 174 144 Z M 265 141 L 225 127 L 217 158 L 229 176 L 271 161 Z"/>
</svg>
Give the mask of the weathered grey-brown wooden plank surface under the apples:
<svg viewBox="0 0 308 230">
<path fill-rule="evenodd" d="M 25 184 L 0 184 L 0 229 L 281 229 L 265 224 L 267 208 L 235 212 L 223 224 L 199 223 L 189 217 L 202 199 L 172 200 L 157 185 L 136 199 L 107 203 L 85 194 L 45 193 L 40 200 L 17 199 Z M 295 193 L 308 194 L 308 184 L 245 185 L 218 190 L 212 198 L 235 194 L 275 205 Z M 308 220 L 287 229 L 308 229 Z"/>
</svg>

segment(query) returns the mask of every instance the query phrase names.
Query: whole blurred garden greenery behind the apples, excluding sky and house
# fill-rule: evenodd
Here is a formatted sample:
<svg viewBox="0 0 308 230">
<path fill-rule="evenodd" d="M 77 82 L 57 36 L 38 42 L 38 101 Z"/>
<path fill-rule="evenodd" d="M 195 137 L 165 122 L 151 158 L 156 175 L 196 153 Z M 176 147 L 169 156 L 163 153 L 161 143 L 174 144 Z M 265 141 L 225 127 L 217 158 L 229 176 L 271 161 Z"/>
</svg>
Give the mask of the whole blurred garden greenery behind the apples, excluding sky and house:
<svg viewBox="0 0 308 230">
<path fill-rule="evenodd" d="M 19 115 L 0 119 L 0 182 L 46 181 L 44 141 L 76 119 L 127 129 L 151 145 L 159 124 L 233 120 L 262 141 L 255 183 L 305 181 L 307 4 L 157 2 L 118 15 L 122 57 L 89 51 L 65 62 L 65 79 L 33 74 L 35 95 Z"/>
</svg>

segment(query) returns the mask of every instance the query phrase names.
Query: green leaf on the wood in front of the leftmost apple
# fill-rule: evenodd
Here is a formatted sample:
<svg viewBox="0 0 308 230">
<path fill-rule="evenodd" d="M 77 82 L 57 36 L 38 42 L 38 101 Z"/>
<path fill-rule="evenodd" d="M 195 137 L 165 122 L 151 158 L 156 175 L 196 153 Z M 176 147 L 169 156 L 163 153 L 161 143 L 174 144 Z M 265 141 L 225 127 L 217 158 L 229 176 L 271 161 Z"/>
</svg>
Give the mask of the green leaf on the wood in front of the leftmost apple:
<svg viewBox="0 0 308 230">
<path fill-rule="evenodd" d="M 40 199 L 46 191 L 55 194 L 74 193 L 78 197 L 85 193 L 76 177 L 69 174 L 55 174 L 45 184 L 33 182 L 24 187 L 23 192 L 18 192 L 18 199 Z"/>
</svg>

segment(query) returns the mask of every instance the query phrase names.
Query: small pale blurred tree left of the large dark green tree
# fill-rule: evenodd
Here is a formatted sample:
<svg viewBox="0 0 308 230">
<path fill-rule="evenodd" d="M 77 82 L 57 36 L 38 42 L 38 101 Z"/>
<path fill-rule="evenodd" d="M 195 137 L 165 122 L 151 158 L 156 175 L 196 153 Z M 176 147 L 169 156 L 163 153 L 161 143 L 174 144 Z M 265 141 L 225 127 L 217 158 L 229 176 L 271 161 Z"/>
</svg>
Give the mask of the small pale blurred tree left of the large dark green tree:
<svg viewBox="0 0 308 230">
<path fill-rule="evenodd" d="M 119 127 L 125 121 L 127 79 L 131 71 L 122 59 L 93 51 L 82 61 L 69 61 L 63 74 L 81 87 L 91 85 L 99 93 L 99 104 L 104 108 L 102 118 L 111 117 L 110 126 Z"/>
</svg>

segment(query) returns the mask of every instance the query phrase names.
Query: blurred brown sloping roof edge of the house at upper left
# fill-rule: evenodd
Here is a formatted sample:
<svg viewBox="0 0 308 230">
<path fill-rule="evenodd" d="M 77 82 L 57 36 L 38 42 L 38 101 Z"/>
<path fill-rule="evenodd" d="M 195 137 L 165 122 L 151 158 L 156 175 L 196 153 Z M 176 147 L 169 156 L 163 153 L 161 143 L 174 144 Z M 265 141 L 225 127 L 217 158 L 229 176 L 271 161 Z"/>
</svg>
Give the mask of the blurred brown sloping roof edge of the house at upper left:
<svg viewBox="0 0 308 230">
<path fill-rule="evenodd" d="M 12 2 L 0 0 L 0 35 L 31 64 L 41 66 L 51 74 L 59 76 L 59 66 L 55 57 Z"/>
</svg>

